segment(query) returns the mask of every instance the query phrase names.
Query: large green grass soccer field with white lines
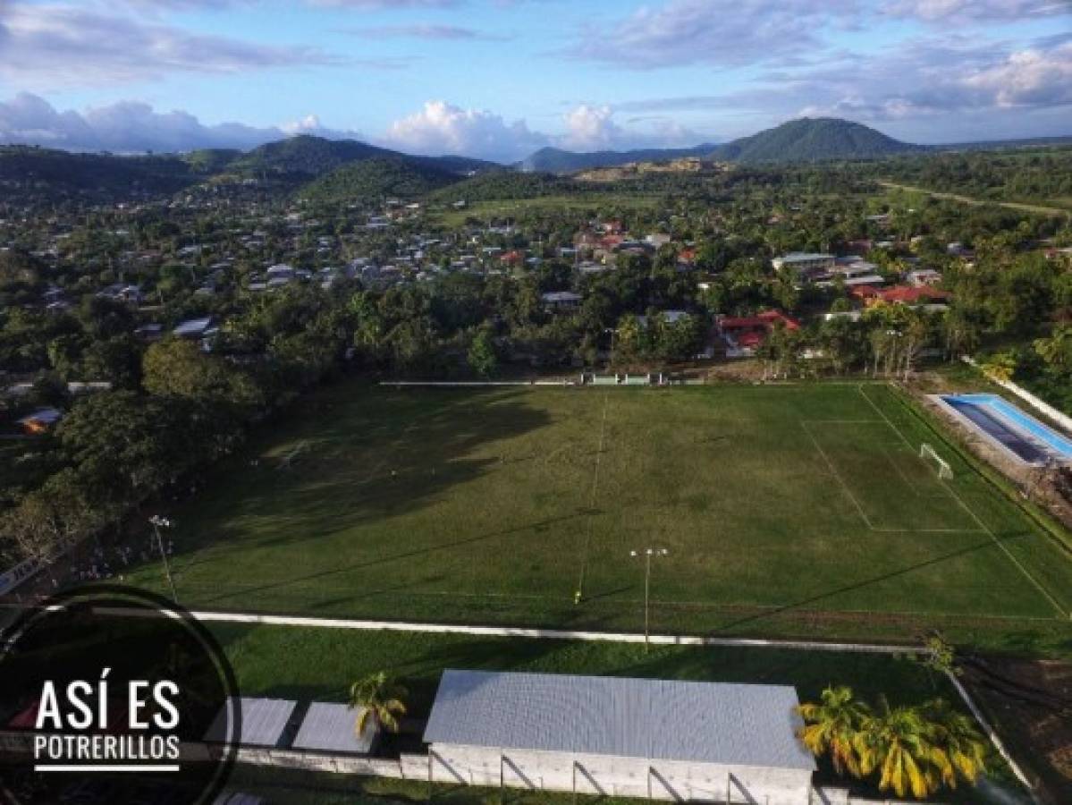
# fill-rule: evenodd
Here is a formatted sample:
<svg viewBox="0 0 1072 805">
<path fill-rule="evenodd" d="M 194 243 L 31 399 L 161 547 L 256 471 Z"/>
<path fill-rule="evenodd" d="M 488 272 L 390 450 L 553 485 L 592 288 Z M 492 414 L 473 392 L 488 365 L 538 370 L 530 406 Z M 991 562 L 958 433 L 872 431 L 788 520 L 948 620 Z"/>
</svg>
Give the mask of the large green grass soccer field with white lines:
<svg viewBox="0 0 1072 805">
<path fill-rule="evenodd" d="M 344 384 L 202 486 L 172 512 L 190 607 L 635 630 L 647 547 L 655 630 L 1063 629 L 1072 607 L 1063 550 L 881 385 Z"/>
</svg>

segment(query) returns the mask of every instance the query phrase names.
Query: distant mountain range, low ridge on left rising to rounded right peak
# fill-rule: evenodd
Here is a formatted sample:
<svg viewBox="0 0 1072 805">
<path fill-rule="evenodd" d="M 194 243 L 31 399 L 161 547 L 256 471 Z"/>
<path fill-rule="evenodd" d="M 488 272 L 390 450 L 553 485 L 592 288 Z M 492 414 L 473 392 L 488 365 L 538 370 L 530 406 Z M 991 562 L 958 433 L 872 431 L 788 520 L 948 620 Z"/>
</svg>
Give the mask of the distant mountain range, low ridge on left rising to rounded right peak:
<svg viewBox="0 0 1072 805">
<path fill-rule="evenodd" d="M 717 146 L 591 153 L 544 148 L 519 163 L 518 167 L 522 170 L 566 174 L 596 167 L 615 167 L 630 162 L 666 162 L 683 156 L 700 156 L 719 162 L 810 162 L 888 156 L 921 150 L 925 150 L 923 146 L 902 143 L 849 120 L 801 118 Z"/>
</svg>

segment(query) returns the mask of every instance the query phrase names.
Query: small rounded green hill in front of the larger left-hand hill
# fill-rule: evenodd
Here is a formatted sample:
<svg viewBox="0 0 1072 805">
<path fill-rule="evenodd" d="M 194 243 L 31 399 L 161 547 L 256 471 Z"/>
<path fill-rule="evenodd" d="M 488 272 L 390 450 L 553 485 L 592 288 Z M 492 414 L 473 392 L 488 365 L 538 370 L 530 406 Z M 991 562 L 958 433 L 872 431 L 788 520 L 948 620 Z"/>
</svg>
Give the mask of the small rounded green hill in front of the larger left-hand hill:
<svg viewBox="0 0 1072 805">
<path fill-rule="evenodd" d="M 300 195 L 318 202 L 383 196 L 414 198 L 460 180 L 458 174 L 434 165 L 396 156 L 376 156 L 336 168 L 302 188 Z"/>
</svg>

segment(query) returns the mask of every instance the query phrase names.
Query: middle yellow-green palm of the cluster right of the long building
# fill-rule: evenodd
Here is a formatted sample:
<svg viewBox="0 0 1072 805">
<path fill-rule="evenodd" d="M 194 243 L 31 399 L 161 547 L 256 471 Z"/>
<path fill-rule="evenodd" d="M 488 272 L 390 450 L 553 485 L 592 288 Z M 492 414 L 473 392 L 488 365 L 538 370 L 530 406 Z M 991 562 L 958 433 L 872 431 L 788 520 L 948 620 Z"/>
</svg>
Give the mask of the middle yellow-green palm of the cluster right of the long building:
<svg viewBox="0 0 1072 805">
<path fill-rule="evenodd" d="M 907 791 L 922 800 L 938 790 L 951 774 L 951 762 L 937 745 L 937 729 L 915 707 L 891 707 L 884 698 L 881 712 L 863 720 L 853 740 L 860 771 L 879 771 L 879 790 L 897 796 Z"/>
</svg>

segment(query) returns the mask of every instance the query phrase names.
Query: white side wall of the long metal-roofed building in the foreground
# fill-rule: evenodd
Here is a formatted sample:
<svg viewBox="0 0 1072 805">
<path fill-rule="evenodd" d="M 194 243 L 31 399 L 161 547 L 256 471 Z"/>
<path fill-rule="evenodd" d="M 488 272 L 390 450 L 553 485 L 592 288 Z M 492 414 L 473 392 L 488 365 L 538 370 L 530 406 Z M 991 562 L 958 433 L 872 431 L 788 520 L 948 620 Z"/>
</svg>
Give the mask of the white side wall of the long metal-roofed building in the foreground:
<svg viewBox="0 0 1072 805">
<path fill-rule="evenodd" d="M 606 756 L 506 750 L 436 744 L 433 779 L 473 786 L 572 791 L 684 802 L 703 800 L 756 805 L 807 805 L 812 773 L 806 770 L 726 766 L 613 758 Z"/>
</svg>

